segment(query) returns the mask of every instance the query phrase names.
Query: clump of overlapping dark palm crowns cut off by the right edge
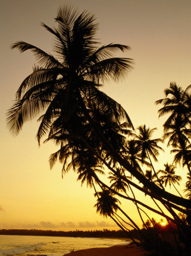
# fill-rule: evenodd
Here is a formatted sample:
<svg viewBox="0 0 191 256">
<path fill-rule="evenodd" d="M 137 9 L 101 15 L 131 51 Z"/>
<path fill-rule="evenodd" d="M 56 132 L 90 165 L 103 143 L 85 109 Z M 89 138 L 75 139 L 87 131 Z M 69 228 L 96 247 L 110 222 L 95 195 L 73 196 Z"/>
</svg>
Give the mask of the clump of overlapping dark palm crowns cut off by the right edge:
<svg viewBox="0 0 191 256">
<path fill-rule="evenodd" d="M 178 163 L 182 159 L 183 166 L 186 165 L 188 167 L 188 171 L 191 175 L 191 158 L 190 152 L 188 151 L 190 148 L 189 139 L 191 138 L 190 88 L 191 85 L 183 90 L 181 86 L 177 86 L 176 83 L 171 83 L 169 89 L 164 90 L 166 97 L 155 103 L 164 105 L 164 107 L 158 111 L 159 117 L 164 114 L 170 114 L 163 125 L 164 139 L 169 138 L 167 145 L 172 145 L 172 147 L 175 148 L 171 152 L 179 153 L 175 156 L 175 163 Z"/>
</svg>

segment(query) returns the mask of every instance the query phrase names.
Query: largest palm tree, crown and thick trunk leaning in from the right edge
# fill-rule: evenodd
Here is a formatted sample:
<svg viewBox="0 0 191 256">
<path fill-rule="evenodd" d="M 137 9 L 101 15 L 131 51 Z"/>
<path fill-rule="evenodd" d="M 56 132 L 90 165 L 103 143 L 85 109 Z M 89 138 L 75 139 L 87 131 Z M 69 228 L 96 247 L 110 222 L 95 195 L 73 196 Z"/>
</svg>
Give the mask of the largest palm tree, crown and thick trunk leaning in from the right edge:
<svg viewBox="0 0 191 256">
<path fill-rule="evenodd" d="M 95 155 L 112 156 L 114 160 L 130 171 L 142 183 L 161 197 L 168 197 L 174 203 L 186 206 L 189 201 L 162 191 L 150 183 L 145 176 L 132 167 L 120 154 L 124 136 L 119 132 L 121 122 L 133 127 L 128 114 L 120 104 L 99 90 L 105 80 L 120 81 L 131 69 L 133 61 L 114 57 L 130 47 L 108 44 L 98 47 L 95 40 L 97 24 L 94 15 L 65 6 L 58 10 L 58 28 L 50 28 L 55 37 L 54 51 L 57 58 L 26 42 L 17 42 L 12 48 L 20 52 L 31 50 L 38 65 L 16 92 L 16 100 L 7 112 L 7 125 L 13 134 L 18 134 L 23 123 L 40 116 L 37 139 L 48 134 L 60 150 L 50 157 L 50 163 L 57 159 L 66 171 L 67 160 L 80 160 L 80 151 Z M 97 117 L 101 117 L 97 119 Z M 95 147 L 93 146 L 95 145 Z M 65 159 L 62 159 L 65 157 Z"/>
</svg>

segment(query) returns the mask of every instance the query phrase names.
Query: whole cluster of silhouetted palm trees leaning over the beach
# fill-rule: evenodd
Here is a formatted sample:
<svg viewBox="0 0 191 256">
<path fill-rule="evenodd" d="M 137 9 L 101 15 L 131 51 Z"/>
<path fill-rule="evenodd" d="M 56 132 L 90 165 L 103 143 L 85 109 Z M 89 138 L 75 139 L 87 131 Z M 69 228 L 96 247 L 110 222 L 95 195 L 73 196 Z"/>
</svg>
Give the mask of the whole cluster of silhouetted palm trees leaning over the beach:
<svg viewBox="0 0 191 256">
<path fill-rule="evenodd" d="M 169 138 L 168 145 L 173 146 L 175 153 L 174 164 L 182 160 L 190 175 L 189 87 L 183 92 L 171 84 L 170 89 L 165 90 L 166 97 L 157 101 L 164 104 L 159 110 L 160 116 L 171 113 L 164 124 L 163 139 L 152 139 L 155 129 L 145 125 L 138 127 L 136 134 L 125 109 L 100 90 L 105 80 L 120 81 L 131 70 L 132 59 L 114 56 L 117 51 L 124 52 L 130 47 L 99 46 L 95 40 L 95 17 L 87 11 L 78 13 L 72 7 L 60 7 L 56 22 L 57 28 L 44 23 L 42 26 L 55 38 L 53 49 L 57 57 L 22 41 L 12 46 L 20 52 L 31 50 L 38 65 L 20 85 L 16 100 L 7 112 L 11 133 L 18 134 L 24 122 L 38 117 L 37 141 L 40 143 L 46 136 L 46 141 L 58 146 L 57 152 L 50 155 L 50 167 L 59 160 L 62 173 L 77 171 L 78 180 L 94 187 L 97 211 L 113 218 L 121 229 L 128 231 L 126 225 L 129 225 L 142 233 L 129 216 L 130 211 L 127 214 L 118 206 L 120 197 L 137 207 L 145 227 L 142 214 L 150 219 L 147 209 L 186 230 L 175 210 L 190 214 L 190 201 L 167 192 L 163 186 L 177 183 L 181 178 L 168 164 L 165 170 L 155 171 L 152 159 L 157 161 L 159 150 L 163 150 L 158 143 Z M 169 98 L 169 94 L 173 97 Z M 150 170 L 145 171 L 145 166 Z M 101 180 L 105 170 L 109 170 L 112 184 Z M 136 191 L 150 196 L 156 208 L 138 200 Z M 142 237 L 146 239 L 144 234 Z"/>
</svg>

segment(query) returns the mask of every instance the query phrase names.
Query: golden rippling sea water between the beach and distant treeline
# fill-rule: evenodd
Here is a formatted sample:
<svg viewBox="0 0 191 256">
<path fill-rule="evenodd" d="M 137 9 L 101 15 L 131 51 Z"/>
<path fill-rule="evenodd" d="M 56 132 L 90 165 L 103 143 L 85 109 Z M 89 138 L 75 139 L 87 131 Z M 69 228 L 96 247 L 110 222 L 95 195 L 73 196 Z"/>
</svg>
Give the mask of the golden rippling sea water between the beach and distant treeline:
<svg viewBox="0 0 191 256">
<path fill-rule="evenodd" d="M 70 253 L 73 250 L 124 245 L 129 242 L 130 241 L 121 241 L 120 238 L 114 240 L 109 238 L 0 235 L 0 256 L 61 256 Z"/>
</svg>

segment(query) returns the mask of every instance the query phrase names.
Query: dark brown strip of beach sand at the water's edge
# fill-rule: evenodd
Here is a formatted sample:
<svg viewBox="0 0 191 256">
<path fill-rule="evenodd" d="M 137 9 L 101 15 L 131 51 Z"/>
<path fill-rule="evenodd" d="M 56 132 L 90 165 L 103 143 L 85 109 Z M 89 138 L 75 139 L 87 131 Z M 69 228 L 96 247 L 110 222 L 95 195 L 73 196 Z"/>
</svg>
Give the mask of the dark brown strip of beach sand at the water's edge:
<svg viewBox="0 0 191 256">
<path fill-rule="evenodd" d="M 151 255 L 152 253 L 151 251 L 145 251 L 141 246 L 138 247 L 133 243 L 131 245 L 114 245 L 105 248 L 79 250 L 67 253 L 64 256 L 143 256 Z"/>
</svg>

